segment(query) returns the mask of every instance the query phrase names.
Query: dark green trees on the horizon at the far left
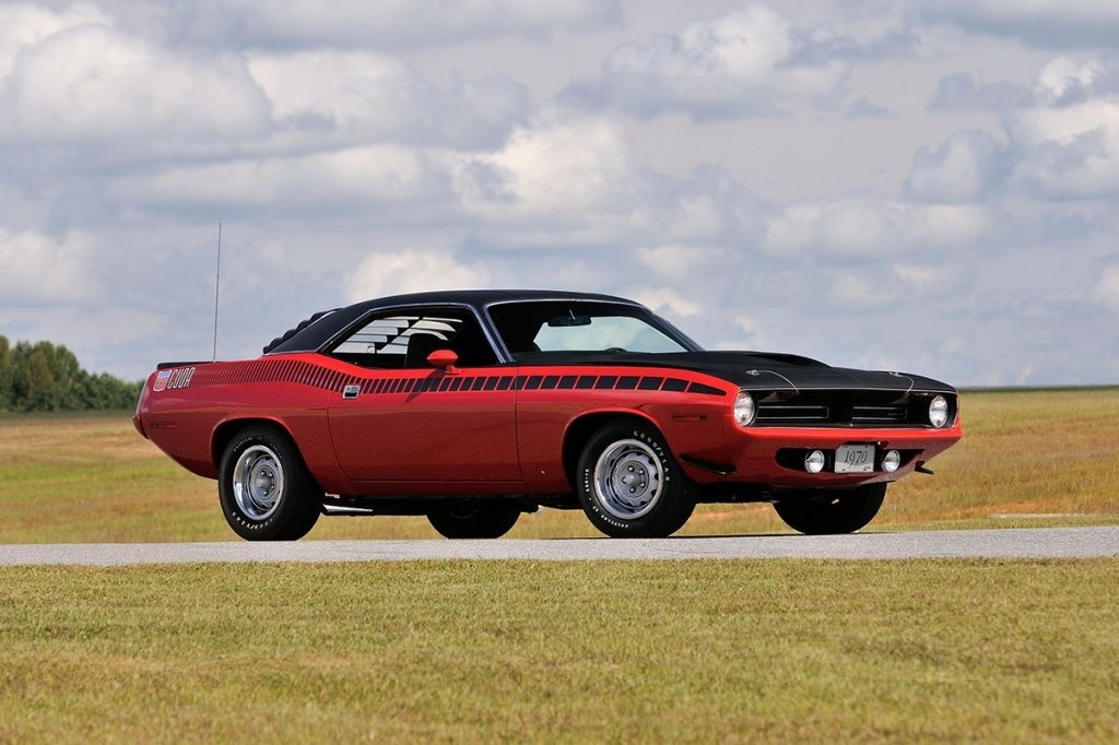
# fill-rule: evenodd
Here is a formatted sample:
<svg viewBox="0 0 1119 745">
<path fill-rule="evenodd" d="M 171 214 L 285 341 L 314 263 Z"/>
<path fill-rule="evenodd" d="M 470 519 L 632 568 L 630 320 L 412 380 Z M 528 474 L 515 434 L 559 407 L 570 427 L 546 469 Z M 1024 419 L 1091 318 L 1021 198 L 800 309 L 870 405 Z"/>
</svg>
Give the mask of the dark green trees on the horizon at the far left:
<svg viewBox="0 0 1119 745">
<path fill-rule="evenodd" d="M 15 346 L 0 336 L 0 414 L 132 408 L 142 381 L 82 369 L 74 352 L 48 341 Z"/>
</svg>

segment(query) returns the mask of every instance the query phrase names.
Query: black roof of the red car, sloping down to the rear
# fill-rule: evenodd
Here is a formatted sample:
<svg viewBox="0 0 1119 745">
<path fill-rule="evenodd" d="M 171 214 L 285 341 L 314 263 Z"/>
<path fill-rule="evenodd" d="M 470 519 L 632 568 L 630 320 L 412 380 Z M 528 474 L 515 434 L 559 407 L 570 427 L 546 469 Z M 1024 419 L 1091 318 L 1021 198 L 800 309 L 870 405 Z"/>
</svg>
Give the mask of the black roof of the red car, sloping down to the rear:
<svg viewBox="0 0 1119 745">
<path fill-rule="evenodd" d="M 613 295 L 562 290 L 441 290 L 389 295 L 316 313 L 294 329 L 273 339 L 264 348 L 264 353 L 318 350 L 370 311 L 408 305 L 468 305 L 476 309 L 479 315 L 485 317 L 483 309 L 487 305 L 526 300 L 576 300 L 637 304 L 632 300 Z"/>
</svg>

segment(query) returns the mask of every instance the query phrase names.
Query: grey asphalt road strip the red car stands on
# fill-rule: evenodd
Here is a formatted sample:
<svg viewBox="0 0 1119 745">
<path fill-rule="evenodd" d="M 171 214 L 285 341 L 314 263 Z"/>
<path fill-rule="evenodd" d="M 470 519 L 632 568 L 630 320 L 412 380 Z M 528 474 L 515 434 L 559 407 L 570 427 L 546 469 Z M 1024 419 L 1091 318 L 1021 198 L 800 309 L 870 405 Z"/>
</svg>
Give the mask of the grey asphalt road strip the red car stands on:
<svg viewBox="0 0 1119 745">
<path fill-rule="evenodd" d="M 218 562 L 546 562 L 694 558 L 1089 558 L 1119 556 L 1119 527 L 721 536 L 618 540 L 302 540 L 251 544 L 26 544 L 0 546 L 0 566 L 126 566 Z"/>
</svg>

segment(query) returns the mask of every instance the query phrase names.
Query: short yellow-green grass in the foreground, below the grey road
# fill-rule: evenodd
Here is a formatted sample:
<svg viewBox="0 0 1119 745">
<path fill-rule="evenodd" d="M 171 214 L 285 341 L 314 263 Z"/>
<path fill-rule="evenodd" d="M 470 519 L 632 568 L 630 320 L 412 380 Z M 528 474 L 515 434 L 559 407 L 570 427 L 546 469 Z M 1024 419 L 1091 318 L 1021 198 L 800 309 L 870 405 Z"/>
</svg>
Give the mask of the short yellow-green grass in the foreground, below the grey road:
<svg viewBox="0 0 1119 745">
<path fill-rule="evenodd" d="M 0 742 L 1116 742 L 1119 563 L 0 569 Z"/>
</svg>

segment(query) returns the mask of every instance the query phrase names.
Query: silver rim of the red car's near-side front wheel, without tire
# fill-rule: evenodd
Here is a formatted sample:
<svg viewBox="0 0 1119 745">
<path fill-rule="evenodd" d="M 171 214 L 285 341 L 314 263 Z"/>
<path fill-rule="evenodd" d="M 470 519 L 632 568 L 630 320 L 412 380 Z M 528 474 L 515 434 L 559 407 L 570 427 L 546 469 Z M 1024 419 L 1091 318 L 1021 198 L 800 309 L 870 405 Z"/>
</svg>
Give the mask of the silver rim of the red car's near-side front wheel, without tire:
<svg viewBox="0 0 1119 745">
<path fill-rule="evenodd" d="M 619 440 L 594 464 L 595 499 L 620 520 L 637 519 L 656 507 L 664 481 L 660 459 L 640 440 Z"/>
</svg>

